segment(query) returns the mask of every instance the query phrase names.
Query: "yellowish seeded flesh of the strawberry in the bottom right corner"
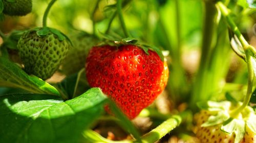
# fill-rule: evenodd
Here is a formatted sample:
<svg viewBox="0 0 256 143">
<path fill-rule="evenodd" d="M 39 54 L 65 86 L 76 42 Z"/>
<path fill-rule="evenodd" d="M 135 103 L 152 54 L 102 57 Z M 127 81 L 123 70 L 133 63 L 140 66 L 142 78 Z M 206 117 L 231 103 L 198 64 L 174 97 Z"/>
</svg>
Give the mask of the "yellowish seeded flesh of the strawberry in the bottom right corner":
<svg viewBox="0 0 256 143">
<path fill-rule="evenodd" d="M 236 134 L 228 134 L 221 130 L 221 124 L 214 125 L 214 126 L 208 126 L 208 127 L 202 127 L 201 125 L 205 123 L 208 118 L 210 117 L 211 113 L 207 110 L 201 110 L 199 113 L 195 115 L 195 121 L 196 121 L 196 129 L 195 133 L 196 136 L 199 138 L 199 140 L 203 142 L 208 143 L 216 143 L 216 142 L 227 142 L 227 143 L 233 143 L 234 138 L 236 137 Z M 240 141 L 241 143 L 254 143 L 256 142 L 256 135 L 248 128 L 248 126 L 245 126 L 245 134 L 243 136 L 243 139 Z"/>
</svg>

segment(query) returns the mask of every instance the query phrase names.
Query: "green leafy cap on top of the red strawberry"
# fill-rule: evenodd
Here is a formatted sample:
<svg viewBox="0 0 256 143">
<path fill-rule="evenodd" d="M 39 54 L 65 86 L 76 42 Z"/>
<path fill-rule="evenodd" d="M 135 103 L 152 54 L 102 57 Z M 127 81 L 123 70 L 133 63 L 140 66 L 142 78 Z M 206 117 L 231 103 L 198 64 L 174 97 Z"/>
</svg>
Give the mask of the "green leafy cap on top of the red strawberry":
<svg viewBox="0 0 256 143">
<path fill-rule="evenodd" d="M 155 51 L 159 55 L 161 61 L 164 61 L 164 56 L 163 56 L 162 51 L 154 45 L 146 44 L 146 43 L 144 43 L 136 38 L 132 38 L 132 37 L 121 38 L 121 36 L 119 36 L 117 34 L 115 34 L 114 36 L 104 34 L 101 32 L 99 32 L 99 34 L 104 40 L 102 43 L 99 44 L 99 46 L 110 45 L 110 46 L 119 47 L 122 45 L 136 45 L 136 46 L 140 47 L 141 49 L 143 49 L 146 54 L 149 54 L 148 53 L 149 49 L 152 51 Z"/>
</svg>

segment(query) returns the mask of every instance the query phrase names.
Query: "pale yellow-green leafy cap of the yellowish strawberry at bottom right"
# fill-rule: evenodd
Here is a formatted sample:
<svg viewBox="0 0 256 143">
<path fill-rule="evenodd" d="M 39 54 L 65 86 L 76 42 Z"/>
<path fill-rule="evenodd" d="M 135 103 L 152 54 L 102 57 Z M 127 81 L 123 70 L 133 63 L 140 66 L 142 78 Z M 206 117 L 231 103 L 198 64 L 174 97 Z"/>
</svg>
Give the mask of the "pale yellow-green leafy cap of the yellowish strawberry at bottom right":
<svg viewBox="0 0 256 143">
<path fill-rule="evenodd" d="M 249 128 L 254 134 L 256 134 L 256 114 L 253 108 L 246 106 L 244 110 L 238 113 L 236 118 L 230 116 L 232 109 L 237 108 L 242 103 L 233 104 L 230 101 L 208 101 L 198 103 L 199 108 L 207 110 L 210 113 L 208 120 L 201 125 L 201 127 L 209 127 L 221 124 L 221 130 L 236 136 L 234 138 L 234 143 L 239 143 L 244 134 L 245 129 Z"/>
</svg>

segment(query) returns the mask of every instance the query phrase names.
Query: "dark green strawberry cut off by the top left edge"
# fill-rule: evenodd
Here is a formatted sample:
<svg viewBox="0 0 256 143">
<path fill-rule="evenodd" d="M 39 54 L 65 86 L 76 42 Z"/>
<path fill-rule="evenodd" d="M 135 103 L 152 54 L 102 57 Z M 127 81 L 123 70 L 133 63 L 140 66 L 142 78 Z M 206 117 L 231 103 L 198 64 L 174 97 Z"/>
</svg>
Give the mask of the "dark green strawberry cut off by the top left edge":
<svg viewBox="0 0 256 143">
<path fill-rule="evenodd" d="M 32 10 L 31 0 L 3 0 L 3 4 L 3 13 L 11 16 L 24 16 Z"/>
</svg>

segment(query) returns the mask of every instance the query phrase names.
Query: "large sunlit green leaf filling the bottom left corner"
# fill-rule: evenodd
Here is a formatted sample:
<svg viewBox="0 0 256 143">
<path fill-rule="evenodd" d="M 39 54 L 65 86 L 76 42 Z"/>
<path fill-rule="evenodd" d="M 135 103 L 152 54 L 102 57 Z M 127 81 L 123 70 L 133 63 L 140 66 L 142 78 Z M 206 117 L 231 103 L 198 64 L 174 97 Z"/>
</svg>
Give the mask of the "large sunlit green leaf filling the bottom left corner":
<svg viewBox="0 0 256 143">
<path fill-rule="evenodd" d="M 0 142 L 79 142 L 104 111 L 106 97 L 94 88 L 63 102 L 50 95 L 0 97 Z"/>
</svg>

